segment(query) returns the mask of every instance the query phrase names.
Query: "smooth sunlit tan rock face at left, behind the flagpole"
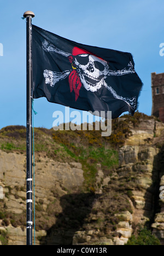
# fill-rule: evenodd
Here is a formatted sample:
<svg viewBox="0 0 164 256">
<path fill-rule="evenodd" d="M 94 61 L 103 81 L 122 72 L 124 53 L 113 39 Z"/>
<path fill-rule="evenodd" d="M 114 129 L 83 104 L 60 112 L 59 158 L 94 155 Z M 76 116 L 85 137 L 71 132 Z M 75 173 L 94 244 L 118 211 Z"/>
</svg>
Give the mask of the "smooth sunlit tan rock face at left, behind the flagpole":
<svg viewBox="0 0 164 256">
<path fill-rule="evenodd" d="M 26 157 L 16 153 L 6 153 L 0 150 L 0 186 L 3 191 L 3 202 L 8 212 L 23 214 L 26 211 Z M 35 166 L 35 200 L 36 206 L 42 202 L 46 211 L 54 201 L 54 191 L 58 197 L 67 194 L 83 184 L 83 170 L 80 163 L 59 163 L 49 158 L 39 158 Z M 57 201 L 57 199 L 56 199 Z M 58 210 L 62 210 L 59 206 Z M 25 219 L 26 221 L 26 219 Z M 2 223 L 2 221 L 1 221 Z M 8 244 L 26 244 L 26 230 L 8 225 L 2 227 L 9 236 Z M 46 235 L 46 231 L 36 232 L 37 237 Z"/>
</svg>

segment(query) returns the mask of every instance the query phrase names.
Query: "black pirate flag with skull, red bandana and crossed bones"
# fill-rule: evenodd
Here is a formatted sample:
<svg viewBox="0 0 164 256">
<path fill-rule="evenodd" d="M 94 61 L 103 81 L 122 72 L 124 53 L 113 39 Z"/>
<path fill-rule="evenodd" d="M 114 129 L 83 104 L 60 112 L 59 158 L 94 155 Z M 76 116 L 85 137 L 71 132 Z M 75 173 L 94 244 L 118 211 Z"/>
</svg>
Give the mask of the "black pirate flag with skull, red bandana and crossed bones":
<svg viewBox="0 0 164 256">
<path fill-rule="evenodd" d="M 134 114 L 142 81 L 132 55 L 67 40 L 32 25 L 33 98 L 74 109 Z"/>
</svg>

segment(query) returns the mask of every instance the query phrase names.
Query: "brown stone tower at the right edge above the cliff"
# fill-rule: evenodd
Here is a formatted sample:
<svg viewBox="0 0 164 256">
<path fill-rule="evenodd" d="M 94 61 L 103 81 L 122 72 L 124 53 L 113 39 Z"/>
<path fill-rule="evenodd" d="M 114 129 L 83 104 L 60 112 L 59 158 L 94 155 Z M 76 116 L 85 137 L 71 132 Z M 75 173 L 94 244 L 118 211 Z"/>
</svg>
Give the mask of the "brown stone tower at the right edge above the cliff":
<svg viewBox="0 0 164 256">
<path fill-rule="evenodd" d="M 151 115 L 157 116 L 164 123 L 164 73 L 151 73 L 151 91 Z"/>
</svg>

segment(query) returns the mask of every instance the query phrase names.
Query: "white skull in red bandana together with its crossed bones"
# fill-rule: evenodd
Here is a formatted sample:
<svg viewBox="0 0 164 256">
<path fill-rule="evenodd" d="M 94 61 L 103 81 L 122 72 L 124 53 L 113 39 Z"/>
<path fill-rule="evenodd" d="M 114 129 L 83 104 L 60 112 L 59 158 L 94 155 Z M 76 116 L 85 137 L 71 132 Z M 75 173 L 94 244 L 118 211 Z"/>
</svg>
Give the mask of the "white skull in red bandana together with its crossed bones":
<svg viewBox="0 0 164 256">
<path fill-rule="evenodd" d="M 137 99 L 135 96 L 132 98 L 122 97 L 106 83 L 106 78 L 108 76 L 121 76 L 135 73 L 131 62 L 128 63 L 128 68 L 124 68 L 122 70 L 110 70 L 106 60 L 78 47 L 74 47 L 71 54 L 58 49 L 53 44 L 44 40 L 42 42 L 42 48 L 46 52 L 56 52 L 67 57 L 72 67 L 72 70 L 66 70 L 63 72 L 44 70 L 43 75 L 45 77 L 46 84 L 55 86 L 58 81 L 69 76 L 69 87 L 71 92 L 74 90 L 75 101 L 77 101 L 79 97 L 79 91 L 82 85 L 87 91 L 91 92 L 96 92 L 102 86 L 104 86 L 110 91 L 110 93 L 113 94 L 114 98 L 121 99 L 122 101 L 125 101 L 132 109 L 136 109 Z"/>
</svg>

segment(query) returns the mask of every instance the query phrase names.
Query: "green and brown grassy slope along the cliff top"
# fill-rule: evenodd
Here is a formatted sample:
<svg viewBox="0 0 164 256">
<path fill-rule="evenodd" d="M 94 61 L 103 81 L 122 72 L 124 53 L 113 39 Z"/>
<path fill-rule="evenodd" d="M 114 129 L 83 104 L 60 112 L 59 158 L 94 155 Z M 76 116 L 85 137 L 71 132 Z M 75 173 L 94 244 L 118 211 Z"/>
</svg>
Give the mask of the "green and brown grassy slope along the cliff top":
<svg viewBox="0 0 164 256">
<path fill-rule="evenodd" d="M 85 177 L 85 188 L 94 191 L 97 164 L 105 175 L 110 175 L 118 167 L 118 148 L 131 135 L 130 126 L 137 126 L 141 119 L 150 119 L 143 113 L 134 116 L 123 115 L 112 120 L 112 134 L 102 136 L 101 130 L 53 130 L 34 128 L 34 148 L 36 156 L 49 157 L 59 162 L 80 162 Z M 65 125 L 64 125 L 65 126 Z M 26 127 L 7 126 L 0 130 L 0 149 L 9 153 L 26 154 Z"/>
</svg>

